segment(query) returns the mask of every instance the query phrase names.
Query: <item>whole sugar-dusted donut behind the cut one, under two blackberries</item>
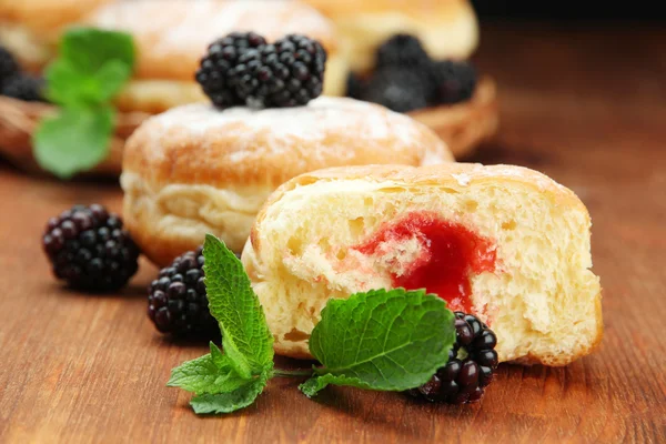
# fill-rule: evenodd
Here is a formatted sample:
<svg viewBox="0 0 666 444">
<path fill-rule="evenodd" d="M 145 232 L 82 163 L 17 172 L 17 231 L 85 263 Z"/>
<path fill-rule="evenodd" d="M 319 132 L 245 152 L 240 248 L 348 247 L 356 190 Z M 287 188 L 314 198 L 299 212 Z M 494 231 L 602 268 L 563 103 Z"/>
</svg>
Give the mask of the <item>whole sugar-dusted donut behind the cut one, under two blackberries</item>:
<svg viewBox="0 0 666 444">
<path fill-rule="evenodd" d="M 293 176 L 326 167 L 452 159 L 425 125 L 353 99 L 264 110 L 190 104 L 149 119 L 128 141 L 124 221 L 158 264 L 195 249 L 205 233 L 240 251 L 265 199 Z"/>
</svg>

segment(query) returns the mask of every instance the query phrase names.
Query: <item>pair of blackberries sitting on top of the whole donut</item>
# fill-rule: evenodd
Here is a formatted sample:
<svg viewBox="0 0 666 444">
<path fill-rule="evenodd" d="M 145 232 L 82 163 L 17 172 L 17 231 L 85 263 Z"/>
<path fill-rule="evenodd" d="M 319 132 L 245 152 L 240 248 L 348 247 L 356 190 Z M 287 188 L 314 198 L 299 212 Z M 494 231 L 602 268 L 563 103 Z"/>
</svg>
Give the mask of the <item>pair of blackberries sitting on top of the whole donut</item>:
<svg viewBox="0 0 666 444">
<path fill-rule="evenodd" d="M 296 107 L 323 89 L 326 52 L 316 40 L 290 34 L 273 44 L 256 33 L 232 33 L 209 47 L 196 81 L 218 107 Z"/>
</svg>

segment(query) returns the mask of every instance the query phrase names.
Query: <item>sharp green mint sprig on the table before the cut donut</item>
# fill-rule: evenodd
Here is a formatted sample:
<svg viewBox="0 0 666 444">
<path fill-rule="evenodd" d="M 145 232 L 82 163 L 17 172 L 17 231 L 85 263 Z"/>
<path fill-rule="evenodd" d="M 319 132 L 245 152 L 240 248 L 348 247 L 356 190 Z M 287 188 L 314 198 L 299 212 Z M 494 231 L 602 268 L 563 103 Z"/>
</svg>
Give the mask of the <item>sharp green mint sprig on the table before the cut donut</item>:
<svg viewBox="0 0 666 444">
<path fill-rule="evenodd" d="M 373 290 L 331 300 L 310 339 L 322 366 L 273 369 L 273 337 L 242 263 L 213 235 L 203 255 L 211 314 L 222 331 L 224 352 L 174 369 L 169 386 L 193 392 L 194 412 L 230 413 L 254 402 L 273 376 L 310 377 L 309 397 L 329 384 L 403 391 L 426 383 L 448 360 L 455 341 L 454 315 L 425 291 Z"/>
</svg>

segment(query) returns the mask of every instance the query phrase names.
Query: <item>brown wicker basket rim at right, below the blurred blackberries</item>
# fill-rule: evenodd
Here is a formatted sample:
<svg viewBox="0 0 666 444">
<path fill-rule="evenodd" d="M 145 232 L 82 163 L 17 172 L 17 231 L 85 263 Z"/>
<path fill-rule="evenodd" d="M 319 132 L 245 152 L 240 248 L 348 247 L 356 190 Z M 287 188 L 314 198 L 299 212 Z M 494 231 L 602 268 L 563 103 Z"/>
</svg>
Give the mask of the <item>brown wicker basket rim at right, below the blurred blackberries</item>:
<svg viewBox="0 0 666 444">
<path fill-rule="evenodd" d="M 471 100 L 413 111 L 410 115 L 435 131 L 456 159 L 466 158 L 497 131 L 500 118 L 495 82 L 485 77 Z"/>
</svg>

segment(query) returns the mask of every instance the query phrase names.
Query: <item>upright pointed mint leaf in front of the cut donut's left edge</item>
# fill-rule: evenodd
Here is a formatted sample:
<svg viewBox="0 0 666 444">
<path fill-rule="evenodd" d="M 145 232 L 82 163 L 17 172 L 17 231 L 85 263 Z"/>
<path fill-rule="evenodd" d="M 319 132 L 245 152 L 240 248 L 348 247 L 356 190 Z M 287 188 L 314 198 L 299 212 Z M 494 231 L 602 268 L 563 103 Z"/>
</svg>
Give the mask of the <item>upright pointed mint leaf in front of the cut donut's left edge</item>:
<svg viewBox="0 0 666 444">
<path fill-rule="evenodd" d="M 243 377 L 273 369 L 273 336 L 241 261 L 218 238 L 203 244 L 209 309 L 220 323 L 222 346 Z"/>
</svg>

